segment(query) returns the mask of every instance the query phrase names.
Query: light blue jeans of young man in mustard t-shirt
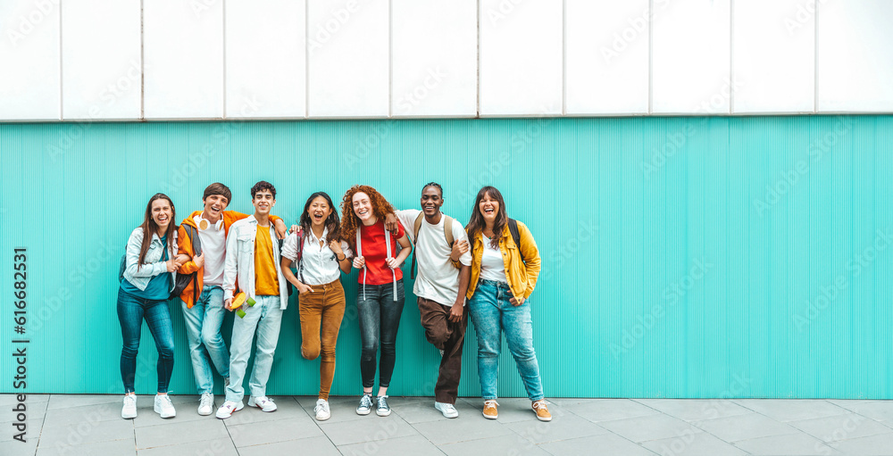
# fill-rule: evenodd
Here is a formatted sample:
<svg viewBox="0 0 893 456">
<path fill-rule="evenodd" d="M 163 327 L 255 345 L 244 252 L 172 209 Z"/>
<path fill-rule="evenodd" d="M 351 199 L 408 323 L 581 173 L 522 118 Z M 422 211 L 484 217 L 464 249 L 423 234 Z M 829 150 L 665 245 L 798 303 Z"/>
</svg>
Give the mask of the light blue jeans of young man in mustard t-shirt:
<svg viewBox="0 0 893 456">
<path fill-rule="evenodd" d="M 248 366 L 248 357 L 251 356 L 251 344 L 255 340 L 257 332 L 257 351 L 255 352 L 255 367 L 251 371 L 251 379 L 248 380 L 248 389 L 255 397 L 267 395 L 267 380 L 270 379 L 270 368 L 273 364 L 273 353 L 276 352 L 276 344 L 279 342 L 280 325 L 282 324 L 282 310 L 280 309 L 280 297 L 255 296 L 255 305 L 248 307 L 243 304 L 245 318 L 238 316 L 232 324 L 232 350 L 230 353 L 230 386 L 226 388 L 226 400 L 239 402 L 245 397 L 245 389 L 242 383 L 245 381 L 245 369 Z"/>
</svg>

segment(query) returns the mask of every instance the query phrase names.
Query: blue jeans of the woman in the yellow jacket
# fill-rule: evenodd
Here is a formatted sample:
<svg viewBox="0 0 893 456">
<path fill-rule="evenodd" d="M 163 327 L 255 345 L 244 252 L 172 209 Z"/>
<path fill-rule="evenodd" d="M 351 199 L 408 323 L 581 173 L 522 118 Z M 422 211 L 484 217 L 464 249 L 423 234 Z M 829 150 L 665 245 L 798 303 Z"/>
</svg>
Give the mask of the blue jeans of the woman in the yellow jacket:
<svg viewBox="0 0 893 456">
<path fill-rule="evenodd" d="M 497 374 L 502 332 L 512 352 L 518 373 L 527 389 L 530 401 L 543 398 L 543 382 L 539 378 L 537 353 L 533 350 L 533 321 L 530 319 L 530 300 L 513 306 L 507 284 L 481 279 L 468 301 L 475 333 L 478 335 L 478 375 L 480 395 L 484 400 L 497 398 Z"/>
</svg>

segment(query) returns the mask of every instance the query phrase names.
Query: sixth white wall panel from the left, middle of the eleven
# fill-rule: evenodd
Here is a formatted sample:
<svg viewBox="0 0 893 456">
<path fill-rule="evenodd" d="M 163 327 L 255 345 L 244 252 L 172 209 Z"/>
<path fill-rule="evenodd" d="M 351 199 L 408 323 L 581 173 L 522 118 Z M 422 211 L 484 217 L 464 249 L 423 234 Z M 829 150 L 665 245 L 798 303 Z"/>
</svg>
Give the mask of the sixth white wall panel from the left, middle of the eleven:
<svg viewBox="0 0 893 456">
<path fill-rule="evenodd" d="M 477 0 L 392 0 L 391 113 L 478 112 Z"/>
</svg>

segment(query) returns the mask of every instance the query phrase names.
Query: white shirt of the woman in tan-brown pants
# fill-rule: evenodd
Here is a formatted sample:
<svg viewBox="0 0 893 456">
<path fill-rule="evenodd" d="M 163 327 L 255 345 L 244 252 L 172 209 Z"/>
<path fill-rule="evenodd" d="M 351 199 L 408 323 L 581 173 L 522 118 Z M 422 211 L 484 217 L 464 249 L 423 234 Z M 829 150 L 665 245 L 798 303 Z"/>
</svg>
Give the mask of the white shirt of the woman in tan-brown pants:
<svg viewBox="0 0 893 456">
<path fill-rule="evenodd" d="M 297 279 L 306 285 L 325 285 L 341 277 L 336 255 L 329 248 L 329 244 L 324 241 L 328 234 L 329 228 L 325 228 L 322 231 L 322 245 L 320 245 L 320 238 L 313 234 L 313 229 L 310 229 L 304 236 L 304 252 L 301 253 L 301 263 L 303 264 L 294 264 L 293 266 L 297 269 L 295 274 Z M 341 241 L 341 250 L 348 258 L 353 256 L 344 241 Z M 297 261 L 297 232 L 285 238 L 285 243 L 282 245 L 282 257 Z M 303 279 L 301 278 L 302 273 Z"/>
</svg>

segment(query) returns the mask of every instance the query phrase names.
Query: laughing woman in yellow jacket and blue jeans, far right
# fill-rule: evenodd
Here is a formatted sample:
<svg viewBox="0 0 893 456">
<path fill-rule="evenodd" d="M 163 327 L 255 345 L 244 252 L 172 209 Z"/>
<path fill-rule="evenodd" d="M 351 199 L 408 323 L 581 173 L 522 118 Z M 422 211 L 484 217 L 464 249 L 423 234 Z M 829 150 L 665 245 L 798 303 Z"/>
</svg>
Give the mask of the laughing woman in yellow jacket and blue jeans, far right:
<svg viewBox="0 0 893 456">
<path fill-rule="evenodd" d="M 537 353 L 533 349 L 530 294 L 539 276 L 539 251 L 523 223 L 511 220 L 505 200 L 495 187 L 478 192 L 468 226 L 472 243 L 472 278 L 468 308 L 478 336 L 478 374 L 484 417 L 497 419 L 497 367 L 502 332 L 537 418 L 552 415 L 543 396 Z M 512 231 L 519 235 L 516 245 Z"/>
</svg>

